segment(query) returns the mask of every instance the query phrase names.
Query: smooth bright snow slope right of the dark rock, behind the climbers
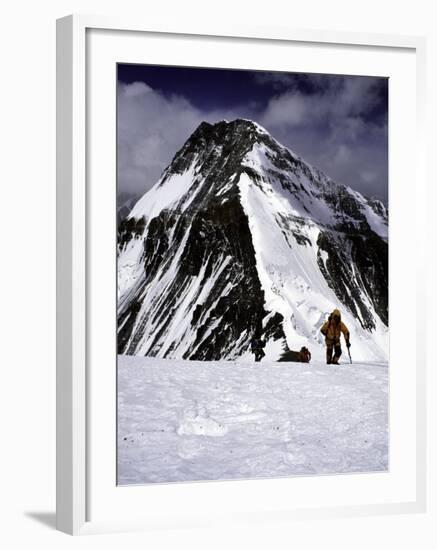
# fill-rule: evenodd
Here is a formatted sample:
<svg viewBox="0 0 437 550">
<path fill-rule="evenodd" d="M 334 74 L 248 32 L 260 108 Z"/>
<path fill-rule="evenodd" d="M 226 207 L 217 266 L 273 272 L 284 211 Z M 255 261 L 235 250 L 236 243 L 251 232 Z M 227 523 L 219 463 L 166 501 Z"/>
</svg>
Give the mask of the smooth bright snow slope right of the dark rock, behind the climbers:
<svg viewBox="0 0 437 550">
<path fill-rule="evenodd" d="M 318 262 L 323 251 L 318 246 L 318 238 L 321 227 L 336 219 L 335 213 L 327 202 L 310 193 L 311 185 L 302 173 L 291 172 L 294 183 L 302 186 L 299 195 L 284 192 L 277 168 L 275 177 L 271 176 L 272 167 L 264 145 L 255 145 L 244 162 L 261 175 L 254 185 L 243 173 L 238 187 L 249 219 L 266 310 L 278 312 L 284 318 L 283 328 L 290 349 L 310 346 L 315 357 L 322 359 L 323 347 L 317 346 L 323 341 L 320 326 L 326 321 L 326 312 L 338 307 L 339 300 L 320 270 Z M 365 204 L 362 195 L 351 193 L 365 205 L 363 213 L 369 225 L 386 239 L 387 225 Z M 296 234 L 300 241 L 305 241 L 304 245 L 299 244 Z M 373 310 L 365 292 L 361 292 L 361 299 Z M 350 311 L 341 309 L 354 342 L 355 355 L 360 359 L 387 360 L 388 330 L 379 316 L 374 313 L 374 329 L 367 332 Z"/>
</svg>

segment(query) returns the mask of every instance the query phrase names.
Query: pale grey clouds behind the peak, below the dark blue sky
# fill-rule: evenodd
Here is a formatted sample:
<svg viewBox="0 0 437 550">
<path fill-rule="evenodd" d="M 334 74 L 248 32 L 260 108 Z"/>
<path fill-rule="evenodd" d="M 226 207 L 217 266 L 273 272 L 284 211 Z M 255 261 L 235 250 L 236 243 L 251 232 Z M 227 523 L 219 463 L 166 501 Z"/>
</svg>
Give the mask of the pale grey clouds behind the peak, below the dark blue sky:
<svg viewBox="0 0 437 550">
<path fill-rule="evenodd" d="M 119 190 L 141 194 L 160 177 L 174 154 L 203 121 L 252 118 L 304 159 L 333 179 L 366 194 L 387 197 L 387 125 L 366 121 L 362 114 L 377 105 L 369 78 L 311 75 L 312 93 L 286 86 L 274 75 L 277 94 L 263 108 L 246 105 L 202 111 L 181 96 L 164 96 L 147 84 L 120 84 L 118 93 Z M 287 76 L 287 75 L 285 75 Z M 262 79 L 257 75 L 257 80 Z M 267 77 L 266 77 L 267 78 Z M 285 90 L 285 91 L 284 91 Z"/>
</svg>

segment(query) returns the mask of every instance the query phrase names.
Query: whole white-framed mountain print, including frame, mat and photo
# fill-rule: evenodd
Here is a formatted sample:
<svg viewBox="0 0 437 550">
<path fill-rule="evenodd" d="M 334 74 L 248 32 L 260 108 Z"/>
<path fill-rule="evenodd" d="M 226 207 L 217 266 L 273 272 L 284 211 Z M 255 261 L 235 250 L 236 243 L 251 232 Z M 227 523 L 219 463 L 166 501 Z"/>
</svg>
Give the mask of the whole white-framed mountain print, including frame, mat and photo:
<svg viewBox="0 0 437 550">
<path fill-rule="evenodd" d="M 423 50 L 58 21 L 59 529 L 424 508 Z"/>
</svg>

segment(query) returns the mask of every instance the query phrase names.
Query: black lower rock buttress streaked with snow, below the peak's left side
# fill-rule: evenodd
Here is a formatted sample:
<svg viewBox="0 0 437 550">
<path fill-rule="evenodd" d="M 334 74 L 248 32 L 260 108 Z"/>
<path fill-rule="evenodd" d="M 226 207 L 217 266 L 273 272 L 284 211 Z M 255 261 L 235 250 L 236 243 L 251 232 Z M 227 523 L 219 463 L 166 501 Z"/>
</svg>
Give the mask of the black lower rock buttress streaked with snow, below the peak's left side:
<svg viewBox="0 0 437 550">
<path fill-rule="evenodd" d="M 172 229 L 176 236 L 169 246 L 167 236 Z M 159 310 L 154 322 L 164 328 L 165 319 L 174 315 L 176 304 L 191 280 L 199 278 L 198 292 L 192 297 L 194 304 L 213 273 L 226 261 L 227 268 L 215 278 L 208 296 L 194 310 L 191 319 L 193 343 L 184 354 L 184 358 L 190 359 L 220 359 L 232 350 L 231 344 L 244 330 L 253 334 L 266 315 L 248 220 L 236 196 L 229 197 L 225 204 L 217 203 L 206 209 L 187 212 L 177 220 L 174 217 L 168 219 L 168 214 L 162 213 L 153 220 L 146 240 L 145 248 L 150 253 L 144 258 L 146 277 L 143 289 L 146 290 L 154 279 L 158 267 L 171 261 L 174 250 L 181 246 L 185 231 L 189 231 L 189 236 L 178 275 L 167 290 L 165 308 Z M 232 289 L 224 296 L 227 285 Z M 138 344 L 135 337 L 127 343 L 135 313 L 138 314 L 129 307 L 120 317 L 120 324 L 126 316 L 131 318 L 130 326 L 125 325 L 126 329 L 119 334 L 119 350 L 128 354 L 134 353 Z M 206 334 L 216 320 L 215 329 Z M 137 331 L 137 335 L 140 337 L 141 331 Z M 147 355 L 153 356 L 160 350 L 160 337 L 157 332 Z M 169 348 L 164 356 L 171 351 Z"/>
</svg>

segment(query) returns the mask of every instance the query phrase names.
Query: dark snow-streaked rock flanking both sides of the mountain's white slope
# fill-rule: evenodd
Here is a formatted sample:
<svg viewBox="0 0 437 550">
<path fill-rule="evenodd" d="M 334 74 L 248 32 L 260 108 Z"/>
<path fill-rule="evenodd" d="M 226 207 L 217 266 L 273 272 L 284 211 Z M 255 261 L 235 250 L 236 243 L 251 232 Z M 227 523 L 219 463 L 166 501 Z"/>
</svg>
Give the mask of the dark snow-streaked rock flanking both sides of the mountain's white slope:
<svg viewBox="0 0 437 550">
<path fill-rule="evenodd" d="M 266 151 L 267 176 L 243 161 L 254 145 Z M 151 219 L 128 217 L 119 225 L 120 253 L 134 239 L 143 242 L 141 278 L 119 307 L 119 353 L 171 357 L 183 349 L 184 359 L 218 360 L 247 351 L 255 334 L 281 340 L 289 352 L 282 315 L 265 309 L 250 220 L 238 189 L 242 174 L 255 186 L 262 177 L 279 182 L 280 193 L 303 205 L 302 216 L 311 213 L 315 201 L 329 205 L 335 215 L 320 224 L 319 269 L 363 329 L 375 327 L 372 308 L 388 324 L 388 246 L 347 188 L 331 186 L 329 178 L 246 120 L 202 123 L 164 171 L 160 187 L 193 165 L 192 183 L 177 204 Z M 289 175 L 295 172 L 309 185 L 297 184 Z M 368 205 L 387 216 L 378 201 Z M 277 215 L 290 247 L 313 246 L 302 216 Z M 185 324 L 175 322 L 181 304 L 190 312 Z"/>
</svg>

